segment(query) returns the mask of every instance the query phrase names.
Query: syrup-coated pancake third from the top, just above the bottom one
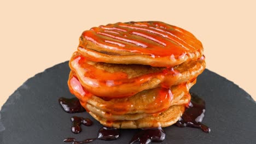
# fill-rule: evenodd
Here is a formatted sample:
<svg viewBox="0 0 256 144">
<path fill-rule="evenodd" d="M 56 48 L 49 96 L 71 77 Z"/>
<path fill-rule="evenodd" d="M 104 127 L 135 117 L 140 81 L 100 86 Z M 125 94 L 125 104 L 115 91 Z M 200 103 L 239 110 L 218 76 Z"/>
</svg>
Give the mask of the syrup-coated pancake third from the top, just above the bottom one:
<svg viewBox="0 0 256 144">
<path fill-rule="evenodd" d="M 88 111 L 94 111 L 98 115 L 106 115 L 109 119 L 117 119 L 115 115 L 133 113 L 153 114 L 164 111 L 172 105 L 189 103 L 185 96 L 195 81 L 172 86 L 170 89 L 154 88 L 139 92 L 129 98 L 104 100 L 89 92 L 84 91 L 80 82 L 69 74 L 68 86 L 70 91 L 80 100 L 80 103 Z M 111 114 L 110 116 L 108 114 Z M 126 117 L 126 116 L 124 116 Z"/>
</svg>

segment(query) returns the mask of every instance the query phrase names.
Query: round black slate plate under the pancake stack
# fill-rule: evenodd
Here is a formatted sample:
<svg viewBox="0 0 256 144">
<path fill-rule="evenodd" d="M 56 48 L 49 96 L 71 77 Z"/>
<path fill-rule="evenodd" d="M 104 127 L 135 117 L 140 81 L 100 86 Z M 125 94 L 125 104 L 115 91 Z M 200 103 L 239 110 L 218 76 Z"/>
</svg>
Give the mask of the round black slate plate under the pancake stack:
<svg viewBox="0 0 256 144">
<path fill-rule="evenodd" d="M 88 113 L 69 114 L 58 104 L 60 97 L 72 98 L 67 87 L 68 62 L 55 65 L 27 80 L 3 105 L 0 112 L 0 143 L 64 143 L 66 137 L 84 140 L 97 136 L 102 125 L 94 121 L 82 126 L 80 134 L 71 133 L 72 116 L 93 119 Z M 162 143 L 255 143 L 256 104 L 243 89 L 224 77 L 205 70 L 191 92 L 206 101 L 203 123 L 211 133 L 195 128 L 164 128 Z M 137 130 L 121 130 L 115 141 L 97 140 L 91 143 L 128 143 Z"/>
</svg>

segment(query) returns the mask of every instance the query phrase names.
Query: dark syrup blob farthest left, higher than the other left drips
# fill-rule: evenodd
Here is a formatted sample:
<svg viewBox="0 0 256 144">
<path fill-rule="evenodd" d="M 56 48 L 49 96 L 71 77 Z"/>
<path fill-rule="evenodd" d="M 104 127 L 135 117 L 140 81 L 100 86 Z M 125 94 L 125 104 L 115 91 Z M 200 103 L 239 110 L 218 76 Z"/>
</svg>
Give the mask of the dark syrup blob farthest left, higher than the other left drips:
<svg viewBox="0 0 256 144">
<path fill-rule="evenodd" d="M 62 106 L 63 110 L 67 113 L 77 113 L 77 112 L 84 112 L 84 107 L 80 104 L 79 99 L 72 98 L 60 98 L 59 103 Z"/>
</svg>

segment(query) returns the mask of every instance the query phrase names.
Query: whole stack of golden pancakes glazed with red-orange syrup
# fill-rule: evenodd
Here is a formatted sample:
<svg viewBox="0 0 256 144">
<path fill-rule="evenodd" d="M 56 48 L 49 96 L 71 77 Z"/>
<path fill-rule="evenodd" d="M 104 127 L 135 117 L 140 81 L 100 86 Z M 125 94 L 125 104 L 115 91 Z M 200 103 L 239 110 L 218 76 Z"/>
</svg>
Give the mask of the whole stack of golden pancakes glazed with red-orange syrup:
<svg viewBox="0 0 256 144">
<path fill-rule="evenodd" d="M 193 34 L 163 22 L 127 22 L 83 32 L 69 61 L 68 86 L 107 127 L 167 127 L 190 101 L 205 69 Z"/>
</svg>

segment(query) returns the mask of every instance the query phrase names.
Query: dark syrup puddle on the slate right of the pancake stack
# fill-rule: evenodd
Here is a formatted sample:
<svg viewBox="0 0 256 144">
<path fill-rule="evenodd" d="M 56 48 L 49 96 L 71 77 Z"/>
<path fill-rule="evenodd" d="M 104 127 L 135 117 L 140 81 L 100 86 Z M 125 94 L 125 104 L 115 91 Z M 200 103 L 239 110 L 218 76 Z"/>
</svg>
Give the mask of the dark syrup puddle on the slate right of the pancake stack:
<svg viewBox="0 0 256 144">
<path fill-rule="evenodd" d="M 205 131 L 205 133 L 210 133 L 211 129 L 201 123 L 203 117 L 205 117 L 205 101 L 196 94 L 191 93 L 189 107 L 185 110 L 176 125 L 178 127 L 200 128 Z"/>
</svg>

